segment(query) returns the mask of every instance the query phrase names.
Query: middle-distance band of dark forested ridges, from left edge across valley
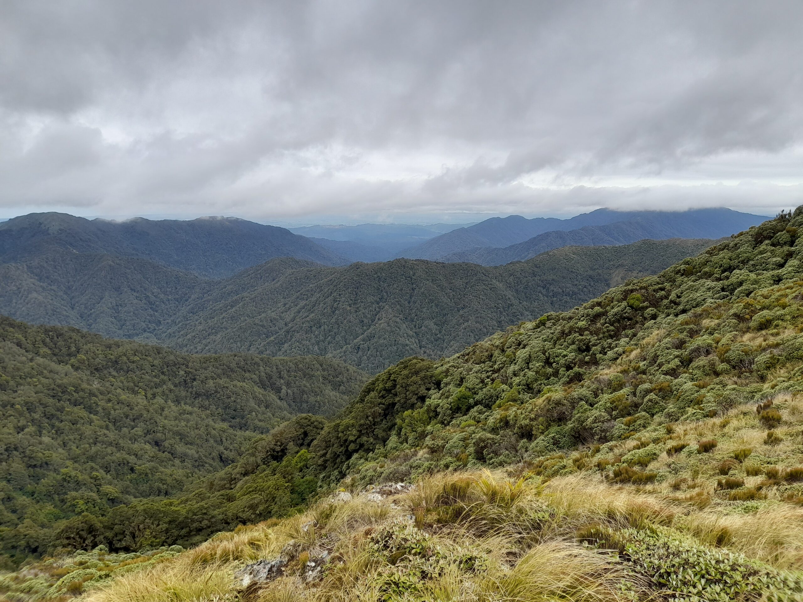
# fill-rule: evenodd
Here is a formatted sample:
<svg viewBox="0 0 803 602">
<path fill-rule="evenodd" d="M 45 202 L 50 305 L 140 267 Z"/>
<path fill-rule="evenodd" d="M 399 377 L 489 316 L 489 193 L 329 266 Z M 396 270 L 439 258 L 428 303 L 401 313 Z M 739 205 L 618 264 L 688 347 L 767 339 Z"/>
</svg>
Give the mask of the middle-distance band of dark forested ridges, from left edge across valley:
<svg viewBox="0 0 803 602">
<path fill-rule="evenodd" d="M 325 355 L 378 372 L 574 307 L 711 243 L 565 248 L 499 267 L 276 258 L 214 281 L 139 258 L 55 252 L 0 265 L 0 312 L 189 352 Z"/>
</svg>

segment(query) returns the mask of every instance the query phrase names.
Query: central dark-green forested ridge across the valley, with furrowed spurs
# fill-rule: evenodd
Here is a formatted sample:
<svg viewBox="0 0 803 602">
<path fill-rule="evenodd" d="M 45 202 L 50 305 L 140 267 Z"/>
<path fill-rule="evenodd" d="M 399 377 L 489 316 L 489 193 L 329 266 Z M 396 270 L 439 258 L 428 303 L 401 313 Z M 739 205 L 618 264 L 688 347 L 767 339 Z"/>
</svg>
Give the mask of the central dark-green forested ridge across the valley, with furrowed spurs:
<svg viewBox="0 0 803 602">
<path fill-rule="evenodd" d="M 546 311 L 574 307 L 613 284 L 655 273 L 711 241 L 644 241 L 566 249 L 499 268 L 397 259 L 308 267 L 265 281 L 258 266 L 173 318 L 161 336 L 190 352 L 325 355 L 369 372 L 407 356 L 450 355 Z"/>
</svg>

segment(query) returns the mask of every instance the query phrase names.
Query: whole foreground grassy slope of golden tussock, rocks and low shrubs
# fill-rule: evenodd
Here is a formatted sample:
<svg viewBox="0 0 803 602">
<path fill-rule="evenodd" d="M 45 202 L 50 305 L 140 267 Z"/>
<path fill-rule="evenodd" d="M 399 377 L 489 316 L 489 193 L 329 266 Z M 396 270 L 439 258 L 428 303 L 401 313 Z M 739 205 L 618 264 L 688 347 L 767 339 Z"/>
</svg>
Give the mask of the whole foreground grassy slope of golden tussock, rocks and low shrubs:
<svg viewBox="0 0 803 602">
<path fill-rule="evenodd" d="M 736 462 L 731 476 L 748 484 L 766 481 L 756 468 L 789 472 L 803 465 L 797 443 L 803 395 L 779 396 L 775 407 L 784 424 L 775 443 L 764 442 L 766 429 L 752 405 L 677 422 L 672 433 L 659 429 L 654 440 L 662 452 L 650 469 L 666 473 L 661 482 L 605 478 L 597 464 L 626 455 L 636 443 L 617 441 L 492 473 L 425 475 L 409 493 L 384 499 L 353 490 L 349 501 L 325 499 L 304 514 L 240 527 L 179 555 L 174 547 L 67 556 L 6 575 L 0 588 L 10 600 L 32 600 L 25 592 L 48 599 L 84 591 L 98 602 L 237 595 L 266 601 L 613 601 L 658 594 L 658 600 L 758 600 L 768 591 L 797 600 L 803 596 L 803 509 L 784 502 L 789 491 L 781 492 L 793 485 L 764 484 L 757 498 L 734 500 L 716 486 L 722 462 L 746 447 L 752 454 Z M 697 441 L 711 438 L 719 445 L 700 453 Z M 683 453 L 663 451 L 680 441 L 690 443 Z M 246 563 L 280 555 L 289 562 L 272 584 L 242 588 L 234 576 Z M 324 555 L 324 576 L 306 583 L 304 563 L 320 563 Z"/>
</svg>

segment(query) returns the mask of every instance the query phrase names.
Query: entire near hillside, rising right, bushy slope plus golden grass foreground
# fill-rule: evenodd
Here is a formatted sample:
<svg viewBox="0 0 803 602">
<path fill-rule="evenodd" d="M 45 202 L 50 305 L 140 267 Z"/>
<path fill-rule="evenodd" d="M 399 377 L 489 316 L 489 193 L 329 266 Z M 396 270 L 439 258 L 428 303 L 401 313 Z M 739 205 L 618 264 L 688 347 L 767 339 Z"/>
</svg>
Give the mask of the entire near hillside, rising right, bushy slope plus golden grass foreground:
<svg viewBox="0 0 803 602">
<path fill-rule="evenodd" d="M 63 587 L 85 578 L 89 600 L 116 602 L 799 600 L 801 227 L 803 207 L 447 360 L 400 362 L 325 425 L 295 418 L 181 498 L 54 543 L 125 547 L 137 524 L 158 525 L 151 547 L 193 543 L 290 515 L 316 486 L 347 491 Z M 416 485 L 358 494 L 398 481 Z"/>
</svg>

